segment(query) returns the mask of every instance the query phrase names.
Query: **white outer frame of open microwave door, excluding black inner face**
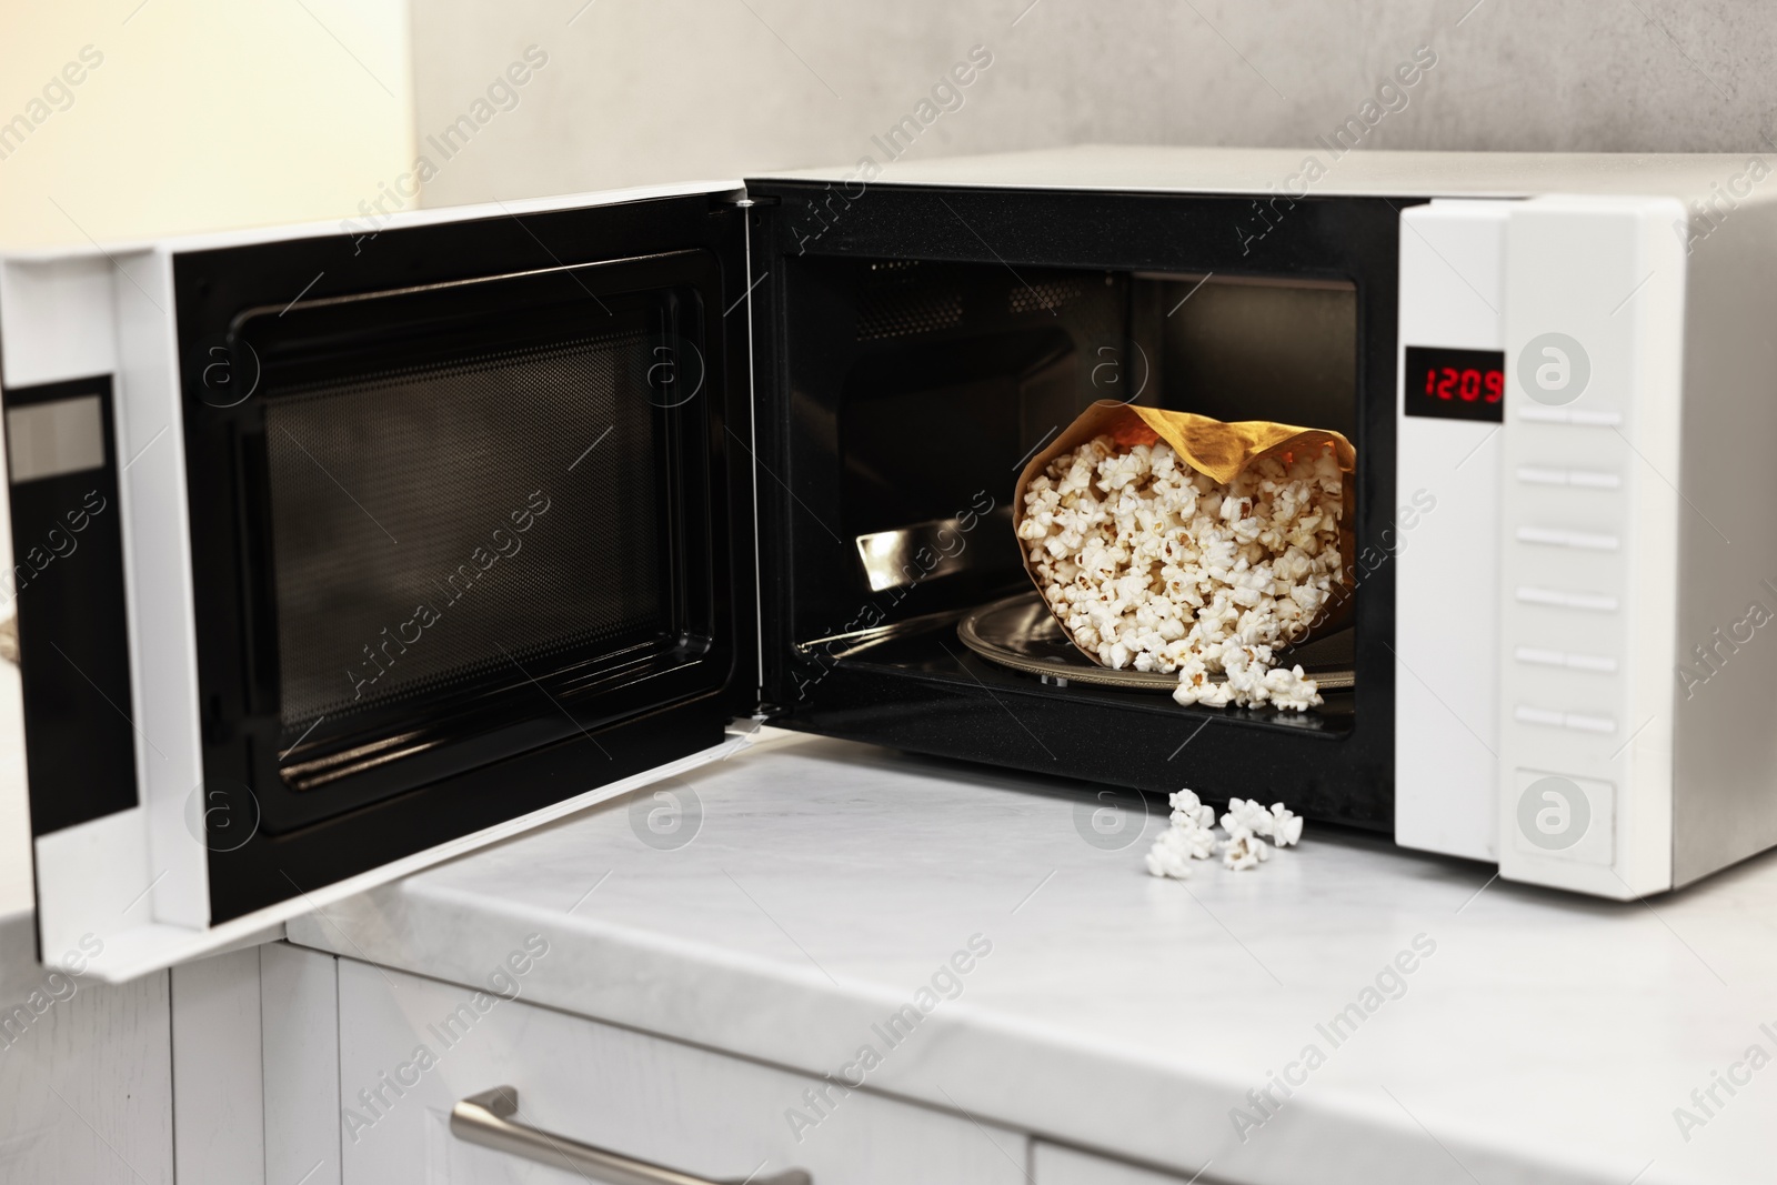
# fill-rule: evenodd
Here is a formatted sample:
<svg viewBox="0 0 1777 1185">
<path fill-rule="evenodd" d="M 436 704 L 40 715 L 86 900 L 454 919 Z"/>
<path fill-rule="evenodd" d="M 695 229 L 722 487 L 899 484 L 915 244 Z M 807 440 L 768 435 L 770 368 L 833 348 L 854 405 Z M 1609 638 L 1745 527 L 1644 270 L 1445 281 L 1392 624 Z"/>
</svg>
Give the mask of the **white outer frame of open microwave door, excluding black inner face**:
<svg viewBox="0 0 1777 1185">
<path fill-rule="evenodd" d="M 533 213 L 576 211 L 656 197 L 702 194 L 714 197 L 734 194 L 737 188 L 734 183 L 681 185 L 508 203 L 506 208 L 418 211 L 394 215 L 370 229 L 386 235 L 403 227 L 439 227 L 514 215 L 524 215 L 528 224 Z M 68 815 L 66 808 L 59 814 L 50 807 L 52 801 L 60 801 L 53 783 L 32 782 L 39 954 L 46 961 L 78 950 L 96 979 L 108 982 L 131 979 L 229 943 L 274 933 L 274 927 L 299 913 L 684 773 L 745 746 L 745 737 L 721 739 L 718 728 L 714 732 L 718 744 L 649 769 L 626 771 L 629 776 L 585 789 L 519 817 L 453 835 L 359 874 L 322 887 L 293 888 L 284 901 L 211 924 L 215 915 L 210 883 L 211 844 L 206 839 L 210 824 L 217 819 L 203 791 L 204 748 L 174 265 L 178 256 L 188 251 L 297 243 L 350 233 L 352 227 L 341 226 L 268 227 L 117 247 L 108 254 L 39 252 L 0 259 L 0 359 L 4 359 L 9 409 L 14 391 L 28 394 L 32 389 L 48 389 L 55 384 L 82 387 L 82 391 L 69 387 L 75 394 L 84 394 L 85 387 L 108 391 L 114 455 L 107 460 L 119 481 L 116 517 L 124 535 L 119 549 L 121 572 L 116 581 L 121 588 L 116 590 L 116 600 L 123 606 L 128 636 L 126 691 L 114 688 L 112 695 L 98 695 L 91 704 L 78 707 L 87 727 L 98 725 L 101 716 L 110 716 L 112 723 L 121 723 L 128 730 L 133 785 L 91 808 L 75 805 L 73 815 Z M 542 251 L 544 247 L 538 247 L 538 252 Z M 745 249 L 737 258 L 745 261 Z M 522 263 L 533 261 L 526 258 Z M 723 281 L 723 307 L 714 309 L 711 320 L 723 314 L 723 309 L 732 311 L 734 298 L 745 291 L 746 277 L 739 272 L 745 268 Z M 727 291 L 729 288 L 732 291 Z M 7 425 L 11 428 L 12 421 Z M 25 430 L 30 426 L 23 425 Z M 734 428 L 741 439 L 752 437 L 750 425 L 734 423 Z M 9 449 L 9 460 L 12 455 L 14 449 Z M 736 464 L 745 465 L 745 473 L 750 474 L 748 458 L 743 457 Z M 12 474 L 14 480 L 18 476 Z M 746 515 L 750 506 L 748 494 Z M 20 554 L 27 554 L 30 540 L 39 533 L 37 528 L 44 524 L 18 526 L 25 529 L 18 531 L 16 545 Z M 750 526 L 750 521 L 734 524 L 737 535 L 748 537 L 746 563 L 752 561 Z M 84 558 L 71 556 L 73 561 L 68 563 L 71 576 L 82 576 L 76 565 Z M 750 634 L 757 627 L 752 572 L 739 561 L 734 567 L 734 581 L 748 585 L 748 595 L 739 599 L 739 608 L 745 611 Z M 21 608 L 23 618 L 28 618 L 28 588 Z M 30 627 L 25 625 L 21 632 L 27 641 L 21 666 L 44 663 L 43 647 L 28 647 Z M 752 638 L 746 640 L 743 654 L 748 650 Z M 53 648 L 48 656 L 48 661 L 55 661 Z M 757 702 L 752 654 L 745 654 L 745 666 L 748 670 L 734 677 L 734 684 L 745 684 L 745 691 L 737 689 L 727 698 L 734 704 L 745 700 L 750 709 Z M 227 807 L 226 803 L 224 814 Z"/>
</svg>

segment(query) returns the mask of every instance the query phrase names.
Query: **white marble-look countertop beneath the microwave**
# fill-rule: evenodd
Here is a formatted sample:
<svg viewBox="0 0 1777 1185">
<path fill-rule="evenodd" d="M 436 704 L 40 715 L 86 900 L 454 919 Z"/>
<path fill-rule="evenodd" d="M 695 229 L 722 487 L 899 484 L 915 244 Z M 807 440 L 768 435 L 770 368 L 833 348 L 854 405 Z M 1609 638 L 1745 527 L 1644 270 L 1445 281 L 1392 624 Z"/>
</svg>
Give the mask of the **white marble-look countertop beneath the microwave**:
<svg viewBox="0 0 1777 1185">
<path fill-rule="evenodd" d="M 480 982 L 538 931 L 531 1002 L 812 1073 L 869 1043 L 873 1089 L 1205 1181 L 1777 1176 L 1777 860 L 1615 904 L 1310 824 L 1256 871 L 1160 881 L 1027 778 L 768 737 L 666 787 L 702 807 L 682 847 L 641 842 L 633 812 L 668 807 L 641 792 L 290 936 Z M 960 995 L 887 1048 L 873 1025 L 976 934 Z M 1351 1004 L 1374 1011 L 1329 1036 Z M 1267 1116 L 1247 1091 L 1287 1070 Z"/>
</svg>

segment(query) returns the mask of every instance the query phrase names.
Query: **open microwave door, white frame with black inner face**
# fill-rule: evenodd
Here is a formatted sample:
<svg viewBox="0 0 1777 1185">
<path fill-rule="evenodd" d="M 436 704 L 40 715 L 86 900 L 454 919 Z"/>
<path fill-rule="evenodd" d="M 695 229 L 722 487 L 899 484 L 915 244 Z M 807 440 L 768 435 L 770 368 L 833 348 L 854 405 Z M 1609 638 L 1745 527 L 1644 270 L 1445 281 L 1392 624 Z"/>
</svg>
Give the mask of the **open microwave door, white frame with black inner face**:
<svg viewBox="0 0 1777 1185">
<path fill-rule="evenodd" d="M 0 263 L 41 958 L 169 966 L 736 744 L 741 201 Z"/>
</svg>

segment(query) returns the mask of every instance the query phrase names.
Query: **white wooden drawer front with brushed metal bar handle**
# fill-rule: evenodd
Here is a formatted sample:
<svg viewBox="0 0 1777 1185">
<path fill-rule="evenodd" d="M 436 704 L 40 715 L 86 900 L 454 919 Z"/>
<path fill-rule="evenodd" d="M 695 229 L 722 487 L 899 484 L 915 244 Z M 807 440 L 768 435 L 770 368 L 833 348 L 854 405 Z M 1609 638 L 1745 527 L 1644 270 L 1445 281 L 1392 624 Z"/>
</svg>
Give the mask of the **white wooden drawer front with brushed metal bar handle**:
<svg viewBox="0 0 1777 1185">
<path fill-rule="evenodd" d="M 519 998 L 339 959 L 343 1185 L 585 1185 L 570 1169 L 451 1135 L 457 1100 L 496 1086 L 515 1087 L 519 1123 L 681 1173 L 1025 1181 L 1018 1132 L 569 1016 L 526 1004 L 510 972 L 499 982 L 508 993 L 515 982 Z M 853 1054 L 833 1050 L 833 1064 Z"/>
</svg>

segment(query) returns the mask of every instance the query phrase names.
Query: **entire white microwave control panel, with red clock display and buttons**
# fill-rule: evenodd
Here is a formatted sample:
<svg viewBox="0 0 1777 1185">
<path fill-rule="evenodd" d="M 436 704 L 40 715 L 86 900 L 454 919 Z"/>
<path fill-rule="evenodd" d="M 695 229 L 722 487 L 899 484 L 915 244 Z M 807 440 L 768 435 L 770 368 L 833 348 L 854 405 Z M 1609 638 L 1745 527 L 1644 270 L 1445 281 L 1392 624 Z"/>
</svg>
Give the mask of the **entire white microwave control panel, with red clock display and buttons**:
<svg viewBox="0 0 1777 1185">
<path fill-rule="evenodd" d="M 1612 197 L 1402 211 L 1404 846 L 1608 897 L 1670 885 L 1670 224 Z"/>
</svg>

